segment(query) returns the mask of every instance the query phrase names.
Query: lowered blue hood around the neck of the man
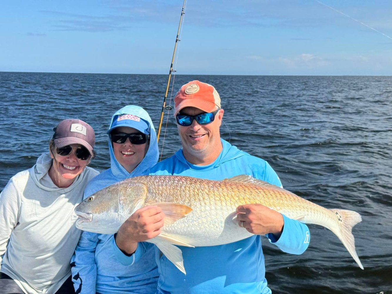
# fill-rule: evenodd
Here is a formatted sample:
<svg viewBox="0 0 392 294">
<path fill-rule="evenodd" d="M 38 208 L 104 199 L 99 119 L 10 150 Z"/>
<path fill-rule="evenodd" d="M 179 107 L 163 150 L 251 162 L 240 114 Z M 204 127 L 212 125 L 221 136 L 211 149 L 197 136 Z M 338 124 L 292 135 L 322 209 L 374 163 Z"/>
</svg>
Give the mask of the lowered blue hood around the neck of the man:
<svg viewBox="0 0 392 294">
<path fill-rule="evenodd" d="M 232 160 L 234 158 L 238 158 L 247 154 L 223 139 L 221 139 L 221 143 L 222 143 L 221 153 L 219 154 L 218 158 L 216 158 L 216 160 L 210 163 L 209 165 L 194 165 L 192 163 L 189 163 L 185 159 L 182 149 L 178 150 L 174 155 L 181 163 L 183 163 L 183 165 L 185 165 L 189 169 L 194 169 L 194 170 L 202 169 L 204 171 L 207 171 L 209 169 L 214 169 L 220 166 L 222 163 L 227 162 L 228 160 Z"/>
</svg>

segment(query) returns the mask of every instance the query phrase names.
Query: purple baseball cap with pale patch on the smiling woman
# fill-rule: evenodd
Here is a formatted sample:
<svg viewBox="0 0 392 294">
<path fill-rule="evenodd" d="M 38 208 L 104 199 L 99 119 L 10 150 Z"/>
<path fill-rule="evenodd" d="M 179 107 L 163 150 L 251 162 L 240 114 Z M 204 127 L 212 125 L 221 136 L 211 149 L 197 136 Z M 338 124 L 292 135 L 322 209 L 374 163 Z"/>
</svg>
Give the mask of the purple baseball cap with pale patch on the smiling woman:
<svg viewBox="0 0 392 294">
<path fill-rule="evenodd" d="M 93 156 L 95 134 L 93 128 L 83 120 L 62 120 L 53 128 L 54 145 L 61 148 L 71 144 L 80 144 Z"/>
</svg>

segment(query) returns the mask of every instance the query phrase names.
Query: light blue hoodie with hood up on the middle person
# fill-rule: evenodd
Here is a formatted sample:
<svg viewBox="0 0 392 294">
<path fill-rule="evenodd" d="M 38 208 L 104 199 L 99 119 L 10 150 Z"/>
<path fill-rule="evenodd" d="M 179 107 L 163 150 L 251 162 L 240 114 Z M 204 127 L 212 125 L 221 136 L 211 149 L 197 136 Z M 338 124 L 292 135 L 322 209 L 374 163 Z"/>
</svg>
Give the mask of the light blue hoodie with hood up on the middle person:
<svg viewBox="0 0 392 294">
<path fill-rule="evenodd" d="M 148 123 L 149 149 L 142 162 L 129 173 L 116 160 L 109 138 L 111 167 L 89 182 L 84 191 L 84 198 L 125 178 L 147 174 L 147 169 L 158 161 L 156 132 L 149 114 L 142 107 L 125 106 L 113 115 L 110 125 L 114 123 L 114 117 L 119 114 L 132 114 Z M 115 252 L 115 250 L 119 252 Z M 72 267 L 72 281 L 76 293 L 155 293 L 158 270 L 154 259 L 153 245 L 139 243 L 138 249 L 130 257 L 131 262 L 128 260 L 126 264 L 121 264 L 117 260 L 116 254 L 119 253 L 123 254 L 116 246 L 113 235 L 83 231 L 78 246 L 76 246 L 74 262 L 71 264 L 74 265 Z M 79 289 L 80 292 L 77 292 Z"/>
</svg>

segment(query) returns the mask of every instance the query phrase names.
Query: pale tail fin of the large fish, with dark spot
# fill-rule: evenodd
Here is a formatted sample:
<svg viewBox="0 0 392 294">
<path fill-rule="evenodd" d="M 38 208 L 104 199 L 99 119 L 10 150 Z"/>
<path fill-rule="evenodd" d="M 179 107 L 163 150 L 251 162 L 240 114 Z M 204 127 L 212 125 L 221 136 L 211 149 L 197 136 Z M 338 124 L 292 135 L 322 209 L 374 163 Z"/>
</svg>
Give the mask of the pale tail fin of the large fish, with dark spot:
<svg viewBox="0 0 392 294">
<path fill-rule="evenodd" d="M 362 263 L 359 260 L 358 254 L 355 251 L 354 236 L 352 235 L 352 227 L 362 221 L 361 215 L 358 212 L 345 209 L 331 209 L 337 217 L 338 227 L 332 229 L 332 232 L 338 236 L 340 241 L 346 247 L 352 258 L 356 261 L 361 269 Z"/>
</svg>

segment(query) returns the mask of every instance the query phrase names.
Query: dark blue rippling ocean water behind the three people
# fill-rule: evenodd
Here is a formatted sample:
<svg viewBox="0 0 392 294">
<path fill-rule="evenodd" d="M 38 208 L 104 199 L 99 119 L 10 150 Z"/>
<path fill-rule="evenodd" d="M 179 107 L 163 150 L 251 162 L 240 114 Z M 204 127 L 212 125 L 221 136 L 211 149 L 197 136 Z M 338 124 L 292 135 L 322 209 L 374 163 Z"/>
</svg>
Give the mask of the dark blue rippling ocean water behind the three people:
<svg viewBox="0 0 392 294">
<path fill-rule="evenodd" d="M 392 77 L 176 75 L 167 104 L 194 79 L 220 93 L 223 139 L 267 160 L 285 189 L 362 215 L 353 234 L 365 270 L 317 225 L 309 225 L 310 245 L 299 256 L 263 238 L 272 292 L 391 294 Z M 47 151 L 64 118 L 93 126 L 98 156 L 91 166 L 107 169 L 112 114 L 140 105 L 158 129 L 166 83 L 166 75 L 0 73 L 0 189 Z M 180 148 L 172 111 L 159 145 L 162 159 Z"/>
</svg>

